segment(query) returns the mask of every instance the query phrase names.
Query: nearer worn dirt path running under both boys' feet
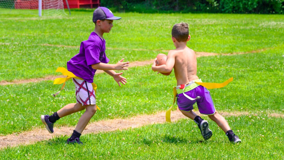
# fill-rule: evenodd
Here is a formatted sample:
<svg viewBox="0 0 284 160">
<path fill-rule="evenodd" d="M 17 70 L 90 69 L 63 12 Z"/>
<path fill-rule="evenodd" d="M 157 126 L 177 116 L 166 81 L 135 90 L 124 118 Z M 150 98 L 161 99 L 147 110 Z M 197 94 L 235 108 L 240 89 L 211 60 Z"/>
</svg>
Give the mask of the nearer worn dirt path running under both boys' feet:
<svg viewBox="0 0 284 160">
<path fill-rule="evenodd" d="M 238 112 L 238 113 L 228 113 L 228 112 L 220 112 L 220 115 L 223 117 L 229 116 L 242 116 L 242 115 L 255 115 L 257 113 L 249 113 L 249 112 Z M 83 134 L 88 133 L 99 133 L 99 132 L 109 132 L 114 130 L 123 130 L 126 128 L 138 128 L 141 126 L 145 126 L 148 124 L 158 124 L 158 123 L 166 123 L 165 120 L 165 112 L 160 112 L 155 115 L 139 115 L 135 117 L 130 117 L 126 119 L 110 119 L 110 120 L 101 120 L 98 122 L 92 122 L 87 125 Z M 200 115 L 197 112 L 197 115 Z M 283 114 L 271 113 L 268 116 L 270 117 L 281 117 L 284 118 Z M 172 122 L 179 120 L 181 118 L 186 118 L 180 111 L 172 111 L 171 120 Z M 7 136 L 0 136 L 0 149 L 5 147 L 15 147 L 18 145 L 28 145 L 33 144 L 39 141 L 49 140 L 56 136 L 61 135 L 71 135 L 74 130 L 74 127 L 54 127 L 54 133 L 50 134 L 45 126 L 42 125 L 42 128 L 34 129 L 32 131 L 23 132 L 20 134 L 9 134 Z"/>
</svg>

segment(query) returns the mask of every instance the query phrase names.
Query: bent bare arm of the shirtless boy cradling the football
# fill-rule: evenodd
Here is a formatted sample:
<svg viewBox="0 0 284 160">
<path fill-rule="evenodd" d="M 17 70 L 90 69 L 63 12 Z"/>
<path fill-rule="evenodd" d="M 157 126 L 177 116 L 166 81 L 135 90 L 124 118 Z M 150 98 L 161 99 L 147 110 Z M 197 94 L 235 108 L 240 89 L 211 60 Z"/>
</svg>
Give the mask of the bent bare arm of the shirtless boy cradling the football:
<svg viewBox="0 0 284 160">
<path fill-rule="evenodd" d="M 172 69 L 174 68 L 174 65 L 175 65 L 174 52 L 169 51 L 166 64 L 156 66 L 156 61 L 157 61 L 157 58 L 154 59 L 154 62 L 153 62 L 153 65 L 152 65 L 152 70 L 154 72 L 157 71 L 157 72 L 161 72 L 161 73 L 168 73 L 168 72 L 172 71 Z"/>
</svg>

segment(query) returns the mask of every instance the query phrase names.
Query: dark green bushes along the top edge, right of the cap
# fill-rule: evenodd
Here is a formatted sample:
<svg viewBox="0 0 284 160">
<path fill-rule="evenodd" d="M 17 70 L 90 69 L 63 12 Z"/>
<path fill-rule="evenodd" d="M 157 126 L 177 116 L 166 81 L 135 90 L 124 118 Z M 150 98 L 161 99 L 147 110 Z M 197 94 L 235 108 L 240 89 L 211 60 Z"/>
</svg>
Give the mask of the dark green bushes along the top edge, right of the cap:
<svg viewBox="0 0 284 160">
<path fill-rule="evenodd" d="M 284 13 L 284 0 L 102 0 L 101 6 L 137 13 Z"/>
</svg>

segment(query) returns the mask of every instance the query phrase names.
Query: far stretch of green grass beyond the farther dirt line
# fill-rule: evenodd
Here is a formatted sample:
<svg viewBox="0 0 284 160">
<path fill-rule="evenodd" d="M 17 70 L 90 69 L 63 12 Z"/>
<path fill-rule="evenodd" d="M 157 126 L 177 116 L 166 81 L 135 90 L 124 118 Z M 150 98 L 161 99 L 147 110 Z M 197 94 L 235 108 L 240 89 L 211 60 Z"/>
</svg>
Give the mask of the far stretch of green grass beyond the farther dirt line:
<svg viewBox="0 0 284 160">
<path fill-rule="evenodd" d="M 283 15 L 116 15 L 122 19 L 114 21 L 112 31 L 104 34 L 111 63 L 121 58 L 130 62 L 149 60 L 164 50 L 173 49 L 171 28 L 182 21 L 190 26 L 188 46 L 199 52 L 249 52 L 277 47 L 284 41 Z M 56 68 L 65 67 L 66 62 L 78 53 L 81 41 L 87 40 L 93 31 L 91 18 L 92 10 L 74 11 L 63 18 L 0 14 L 3 26 L 0 31 L 0 81 L 56 75 Z"/>
</svg>

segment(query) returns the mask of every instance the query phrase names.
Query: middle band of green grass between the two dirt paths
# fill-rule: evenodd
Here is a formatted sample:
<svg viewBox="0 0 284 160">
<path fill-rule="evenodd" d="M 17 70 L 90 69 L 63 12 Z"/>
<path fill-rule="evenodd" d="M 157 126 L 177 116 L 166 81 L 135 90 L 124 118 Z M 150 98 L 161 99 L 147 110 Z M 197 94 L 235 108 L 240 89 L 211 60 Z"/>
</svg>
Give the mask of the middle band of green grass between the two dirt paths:
<svg viewBox="0 0 284 160">
<path fill-rule="evenodd" d="M 204 82 L 221 83 L 234 77 L 233 82 L 228 86 L 210 90 L 218 111 L 284 113 L 282 98 L 284 90 L 281 89 L 284 69 L 281 58 L 283 57 L 273 52 L 275 51 L 270 50 L 267 53 L 197 59 L 198 76 Z M 211 64 L 212 62 L 214 64 Z M 272 65 L 273 68 L 270 68 Z M 165 111 L 172 104 L 174 74 L 157 75 L 151 70 L 151 66 L 147 65 L 130 68 L 124 71 L 123 76 L 128 79 L 128 83 L 119 88 L 108 74 L 95 75 L 95 83 L 98 85 L 97 105 L 102 110 L 96 113 L 91 122 L 137 114 L 152 114 Z M 31 130 L 36 126 L 43 127 L 38 120 L 40 114 L 52 114 L 64 105 L 74 103 L 72 81 L 67 82 L 64 90 L 57 97 L 52 97 L 52 94 L 59 91 L 60 87 L 61 85 L 53 85 L 52 81 L 0 86 L 1 90 L 5 91 L 1 94 L 0 101 L 3 105 L 0 110 L 1 134 Z M 58 121 L 57 125 L 74 126 L 77 123 L 74 119 L 78 119 L 82 113 L 64 117 Z M 15 121 L 19 115 L 24 121 Z M 11 121 L 14 125 L 11 125 Z"/>
</svg>

